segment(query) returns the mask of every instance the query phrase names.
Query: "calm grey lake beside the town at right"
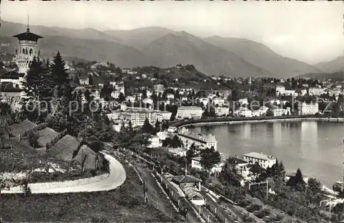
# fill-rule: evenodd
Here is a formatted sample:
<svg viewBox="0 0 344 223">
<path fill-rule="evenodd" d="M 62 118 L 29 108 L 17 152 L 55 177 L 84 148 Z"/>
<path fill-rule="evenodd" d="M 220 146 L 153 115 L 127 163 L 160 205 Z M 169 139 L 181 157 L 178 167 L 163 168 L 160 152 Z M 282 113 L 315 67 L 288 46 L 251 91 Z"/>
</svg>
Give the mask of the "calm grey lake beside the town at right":
<svg viewBox="0 0 344 223">
<path fill-rule="evenodd" d="M 303 175 L 327 187 L 343 180 L 343 123 L 245 123 L 189 129 L 215 135 L 217 150 L 225 156 L 242 158 L 244 153 L 262 152 L 283 161 L 287 173 L 300 167 Z"/>
</svg>

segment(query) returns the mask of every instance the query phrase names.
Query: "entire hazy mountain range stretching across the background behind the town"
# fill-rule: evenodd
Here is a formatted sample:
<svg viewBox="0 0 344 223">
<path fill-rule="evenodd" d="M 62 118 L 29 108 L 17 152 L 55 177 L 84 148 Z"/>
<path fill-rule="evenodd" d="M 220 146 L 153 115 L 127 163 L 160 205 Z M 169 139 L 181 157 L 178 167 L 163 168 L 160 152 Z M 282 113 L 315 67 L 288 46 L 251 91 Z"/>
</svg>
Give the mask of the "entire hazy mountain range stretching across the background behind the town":
<svg viewBox="0 0 344 223">
<path fill-rule="evenodd" d="M 2 21 L 1 43 L 9 43 L 3 50 L 13 53 L 18 43 L 11 36 L 25 32 L 26 28 L 21 23 Z M 30 31 L 43 36 L 39 40 L 43 57 L 52 58 L 59 50 L 66 57 L 109 61 L 119 67 L 170 67 L 182 63 L 193 64 L 208 75 L 279 78 L 343 69 L 343 58 L 309 65 L 248 39 L 202 38 L 160 27 L 101 32 L 91 28 L 73 30 L 30 25 Z"/>
</svg>

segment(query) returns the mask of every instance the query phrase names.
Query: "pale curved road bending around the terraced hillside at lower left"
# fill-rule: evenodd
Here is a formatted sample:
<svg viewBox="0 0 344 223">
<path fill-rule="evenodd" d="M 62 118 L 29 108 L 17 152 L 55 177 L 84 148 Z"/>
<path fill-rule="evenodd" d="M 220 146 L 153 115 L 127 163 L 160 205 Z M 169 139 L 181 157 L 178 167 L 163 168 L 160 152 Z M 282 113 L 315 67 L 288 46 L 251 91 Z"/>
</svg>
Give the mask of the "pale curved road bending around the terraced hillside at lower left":
<svg viewBox="0 0 344 223">
<path fill-rule="evenodd" d="M 64 182 L 46 182 L 29 184 L 32 193 L 78 193 L 93 191 L 110 191 L 125 182 L 126 174 L 122 164 L 114 157 L 103 153 L 109 160 L 109 173 L 93 178 L 69 180 Z M 21 187 L 1 190 L 1 193 L 23 193 Z"/>
</svg>

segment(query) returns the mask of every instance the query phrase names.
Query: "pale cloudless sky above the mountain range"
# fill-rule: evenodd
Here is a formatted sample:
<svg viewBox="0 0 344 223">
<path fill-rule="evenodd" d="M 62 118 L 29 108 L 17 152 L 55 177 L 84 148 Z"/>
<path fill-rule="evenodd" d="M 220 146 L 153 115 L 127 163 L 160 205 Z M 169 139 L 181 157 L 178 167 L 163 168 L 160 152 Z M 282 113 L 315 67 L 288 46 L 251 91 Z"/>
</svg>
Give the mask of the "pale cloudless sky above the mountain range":
<svg viewBox="0 0 344 223">
<path fill-rule="evenodd" d="M 161 26 L 197 36 L 240 37 L 314 64 L 344 53 L 341 1 L 2 1 L 1 19 L 17 23 L 131 30 Z"/>
</svg>

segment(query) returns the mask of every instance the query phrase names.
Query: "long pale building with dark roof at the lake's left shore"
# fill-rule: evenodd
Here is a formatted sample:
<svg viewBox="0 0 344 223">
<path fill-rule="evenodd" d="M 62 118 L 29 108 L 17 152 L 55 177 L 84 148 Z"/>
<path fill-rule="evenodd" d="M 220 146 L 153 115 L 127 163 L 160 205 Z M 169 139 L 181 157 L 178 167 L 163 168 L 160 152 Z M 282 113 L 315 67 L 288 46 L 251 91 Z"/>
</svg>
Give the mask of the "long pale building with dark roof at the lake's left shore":
<svg viewBox="0 0 344 223">
<path fill-rule="evenodd" d="M 190 148 L 193 143 L 195 146 L 211 148 L 214 147 L 217 150 L 217 141 L 215 136 L 212 134 L 208 134 L 208 136 L 200 133 L 196 133 L 193 131 L 189 131 L 185 127 L 182 127 L 180 131 L 178 131 L 178 137 L 182 140 L 184 147 Z"/>
</svg>

